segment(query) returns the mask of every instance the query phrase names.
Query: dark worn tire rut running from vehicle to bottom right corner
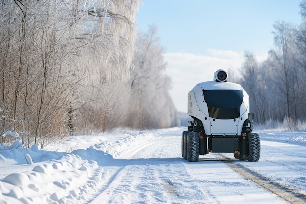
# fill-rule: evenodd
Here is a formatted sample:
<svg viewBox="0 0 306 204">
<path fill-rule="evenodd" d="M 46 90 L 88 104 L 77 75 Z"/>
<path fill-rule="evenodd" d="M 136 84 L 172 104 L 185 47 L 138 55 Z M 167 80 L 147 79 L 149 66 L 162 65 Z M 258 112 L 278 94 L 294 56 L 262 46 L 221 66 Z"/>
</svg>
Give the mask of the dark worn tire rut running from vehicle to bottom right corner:
<svg viewBox="0 0 306 204">
<path fill-rule="evenodd" d="M 263 188 L 271 191 L 272 193 L 278 195 L 284 200 L 290 202 L 291 204 L 305 204 L 306 195 L 301 194 L 298 190 L 289 189 L 281 184 L 271 181 L 269 178 L 259 174 L 255 171 L 252 171 L 249 168 L 239 164 L 231 163 L 229 161 L 223 161 L 228 167 L 239 173 L 241 176 L 245 177 L 248 180 L 254 181 Z"/>
</svg>

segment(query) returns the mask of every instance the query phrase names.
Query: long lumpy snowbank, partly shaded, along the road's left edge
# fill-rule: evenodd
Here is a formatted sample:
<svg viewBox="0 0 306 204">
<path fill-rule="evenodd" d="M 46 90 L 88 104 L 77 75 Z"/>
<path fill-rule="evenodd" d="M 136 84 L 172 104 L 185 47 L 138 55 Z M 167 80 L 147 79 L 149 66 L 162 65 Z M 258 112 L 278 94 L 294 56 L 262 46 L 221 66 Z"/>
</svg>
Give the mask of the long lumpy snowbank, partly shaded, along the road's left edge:
<svg viewBox="0 0 306 204">
<path fill-rule="evenodd" d="M 94 136 L 98 143 L 72 153 L 41 150 L 37 145 L 27 149 L 16 141 L 0 149 L 0 165 L 30 164 L 25 165 L 29 171 L 9 173 L 0 180 L 0 203 L 86 203 L 102 188 L 103 179 L 109 175 L 103 166 L 115 163 L 113 156 L 151 141 L 160 132 L 163 130 Z M 84 139 L 89 141 L 92 137 Z M 88 145 L 87 141 L 84 144 Z M 82 142 L 75 146 L 82 146 Z"/>
</svg>

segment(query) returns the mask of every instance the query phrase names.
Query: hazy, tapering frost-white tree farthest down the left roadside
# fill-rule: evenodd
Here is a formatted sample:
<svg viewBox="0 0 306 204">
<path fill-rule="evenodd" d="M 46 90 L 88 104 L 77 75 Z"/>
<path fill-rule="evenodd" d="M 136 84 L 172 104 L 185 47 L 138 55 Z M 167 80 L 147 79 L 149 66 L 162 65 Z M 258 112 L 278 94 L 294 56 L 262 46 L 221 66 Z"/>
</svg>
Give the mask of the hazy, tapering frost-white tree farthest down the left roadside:
<svg viewBox="0 0 306 204">
<path fill-rule="evenodd" d="M 140 33 L 136 45 L 130 76 L 131 125 L 142 129 L 178 126 L 177 111 L 169 95 L 171 80 L 165 75 L 167 64 L 157 28 L 152 26 L 148 33 Z"/>
</svg>

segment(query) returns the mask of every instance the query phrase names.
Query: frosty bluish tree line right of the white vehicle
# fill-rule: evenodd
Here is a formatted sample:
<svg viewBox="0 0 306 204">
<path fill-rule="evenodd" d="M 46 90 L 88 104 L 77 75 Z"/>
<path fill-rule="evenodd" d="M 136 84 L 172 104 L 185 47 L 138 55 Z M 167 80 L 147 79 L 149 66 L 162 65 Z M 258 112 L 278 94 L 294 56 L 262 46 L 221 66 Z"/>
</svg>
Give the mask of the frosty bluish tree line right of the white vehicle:
<svg viewBox="0 0 306 204">
<path fill-rule="evenodd" d="M 306 1 L 300 3 L 301 24 L 278 21 L 273 26 L 274 48 L 259 63 L 244 53 L 239 81 L 250 95 L 251 112 L 260 124 L 306 119 Z"/>
</svg>

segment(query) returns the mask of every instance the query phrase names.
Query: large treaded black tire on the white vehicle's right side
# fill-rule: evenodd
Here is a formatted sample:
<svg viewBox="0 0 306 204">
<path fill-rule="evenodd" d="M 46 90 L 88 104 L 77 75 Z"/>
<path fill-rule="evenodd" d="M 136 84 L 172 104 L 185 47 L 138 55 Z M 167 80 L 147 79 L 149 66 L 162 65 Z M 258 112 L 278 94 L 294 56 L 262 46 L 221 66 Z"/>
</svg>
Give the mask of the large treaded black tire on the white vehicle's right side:
<svg viewBox="0 0 306 204">
<path fill-rule="evenodd" d="M 257 133 L 248 134 L 249 154 L 246 157 L 248 161 L 258 161 L 261 153 L 261 142 Z"/>
</svg>

